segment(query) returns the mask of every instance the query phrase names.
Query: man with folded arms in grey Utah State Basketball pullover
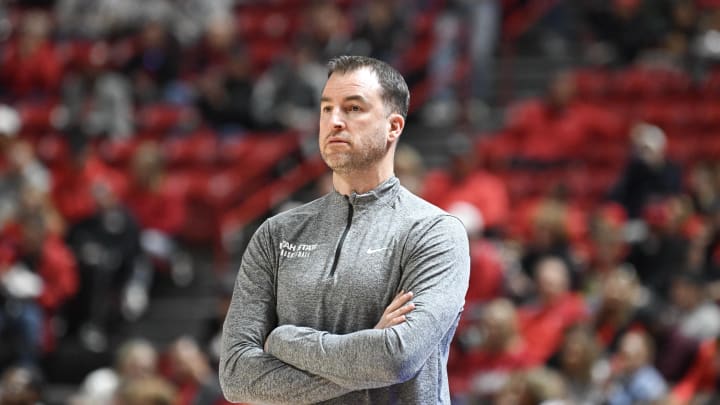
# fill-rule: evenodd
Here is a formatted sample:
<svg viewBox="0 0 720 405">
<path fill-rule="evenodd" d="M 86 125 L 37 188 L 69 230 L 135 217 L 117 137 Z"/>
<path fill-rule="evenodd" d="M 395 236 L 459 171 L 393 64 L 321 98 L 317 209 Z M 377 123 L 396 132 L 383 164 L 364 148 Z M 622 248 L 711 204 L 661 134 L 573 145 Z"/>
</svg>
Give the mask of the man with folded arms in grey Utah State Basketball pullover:
<svg viewBox="0 0 720 405">
<path fill-rule="evenodd" d="M 268 219 L 250 241 L 223 329 L 223 392 L 235 402 L 449 404 L 465 229 L 393 175 L 409 104 L 402 76 L 355 56 L 329 70 L 319 145 L 334 191 Z"/>
</svg>

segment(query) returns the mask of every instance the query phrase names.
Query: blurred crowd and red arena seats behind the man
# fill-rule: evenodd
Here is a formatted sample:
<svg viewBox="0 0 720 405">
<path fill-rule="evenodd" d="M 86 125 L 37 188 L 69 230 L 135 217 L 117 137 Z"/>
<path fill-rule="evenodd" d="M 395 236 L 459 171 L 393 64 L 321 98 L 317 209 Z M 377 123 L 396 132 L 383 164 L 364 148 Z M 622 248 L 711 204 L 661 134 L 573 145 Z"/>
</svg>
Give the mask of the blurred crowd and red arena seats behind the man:
<svg viewBox="0 0 720 405">
<path fill-rule="evenodd" d="M 248 239 L 331 188 L 326 61 L 459 216 L 456 404 L 718 400 L 720 1 L 0 1 L 0 404 L 223 404 Z"/>
</svg>

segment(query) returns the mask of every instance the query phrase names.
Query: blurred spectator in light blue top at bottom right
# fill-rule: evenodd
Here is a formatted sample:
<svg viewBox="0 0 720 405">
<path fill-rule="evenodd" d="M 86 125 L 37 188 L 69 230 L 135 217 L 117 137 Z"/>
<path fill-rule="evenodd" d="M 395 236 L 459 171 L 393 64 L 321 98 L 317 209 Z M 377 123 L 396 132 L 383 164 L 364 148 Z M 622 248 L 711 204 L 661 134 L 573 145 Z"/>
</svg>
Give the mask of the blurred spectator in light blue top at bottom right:
<svg viewBox="0 0 720 405">
<path fill-rule="evenodd" d="M 653 344 L 643 332 L 627 332 L 612 364 L 607 394 L 609 405 L 659 403 L 667 395 L 667 384 L 653 367 Z"/>
</svg>

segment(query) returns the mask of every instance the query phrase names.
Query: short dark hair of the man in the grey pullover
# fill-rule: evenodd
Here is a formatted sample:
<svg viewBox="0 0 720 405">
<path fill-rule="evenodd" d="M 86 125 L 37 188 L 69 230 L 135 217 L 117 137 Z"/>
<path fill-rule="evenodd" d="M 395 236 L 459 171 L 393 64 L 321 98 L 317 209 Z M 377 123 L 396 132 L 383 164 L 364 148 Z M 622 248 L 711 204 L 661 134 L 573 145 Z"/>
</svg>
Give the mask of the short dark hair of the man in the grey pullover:
<svg viewBox="0 0 720 405">
<path fill-rule="evenodd" d="M 380 95 L 392 112 L 407 118 L 410 106 L 410 90 L 407 83 L 394 67 L 387 63 L 367 56 L 343 55 L 330 59 L 328 62 L 328 78 L 335 72 L 354 72 L 361 68 L 369 68 L 378 78 L 382 94 Z"/>
</svg>

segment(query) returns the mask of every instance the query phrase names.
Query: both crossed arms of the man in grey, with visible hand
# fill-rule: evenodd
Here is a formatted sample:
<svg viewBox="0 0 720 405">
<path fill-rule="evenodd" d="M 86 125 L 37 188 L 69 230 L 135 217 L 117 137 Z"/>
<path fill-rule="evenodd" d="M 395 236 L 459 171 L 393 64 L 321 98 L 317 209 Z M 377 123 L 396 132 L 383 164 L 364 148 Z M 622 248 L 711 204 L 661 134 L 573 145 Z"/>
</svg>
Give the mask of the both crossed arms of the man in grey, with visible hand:
<svg viewBox="0 0 720 405">
<path fill-rule="evenodd" d="M 409 241 L 401 280 L 413 294 L 396 296 L 376 329 L 336 335 L 276 327 L 275 258 L 268 249 L 269 223 L 263 224 L 243 257 L 223 329 L 225 396 L 236 402 L 313 403 L 414 377 L 457 322 L 469 274 L 462 224 L 440 217 L 424 228 Z M 410 297 L 412 305 L 406 305 Z"/>
</svg>

